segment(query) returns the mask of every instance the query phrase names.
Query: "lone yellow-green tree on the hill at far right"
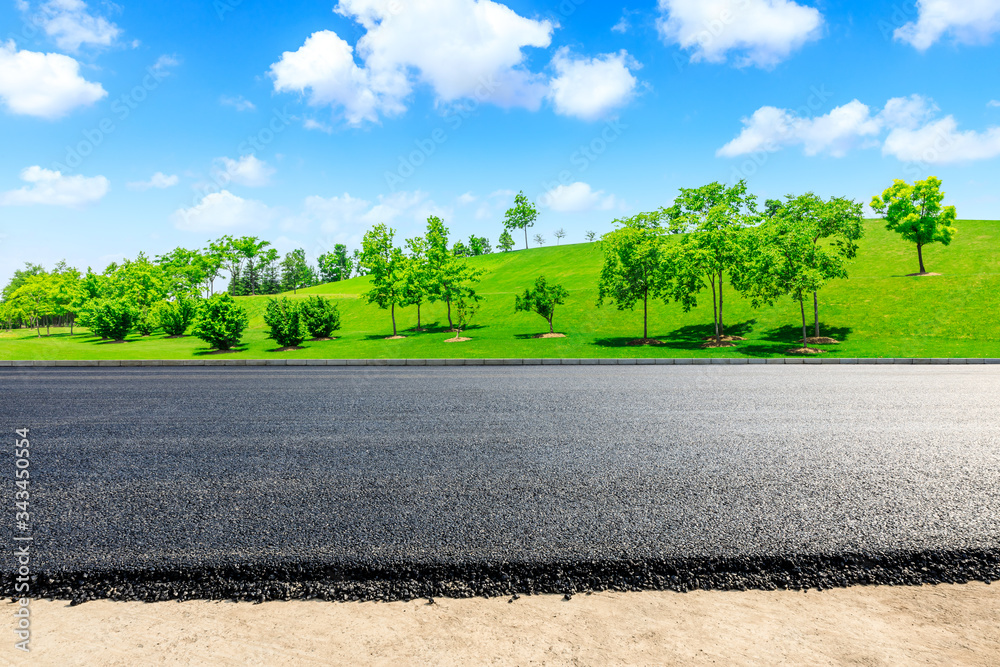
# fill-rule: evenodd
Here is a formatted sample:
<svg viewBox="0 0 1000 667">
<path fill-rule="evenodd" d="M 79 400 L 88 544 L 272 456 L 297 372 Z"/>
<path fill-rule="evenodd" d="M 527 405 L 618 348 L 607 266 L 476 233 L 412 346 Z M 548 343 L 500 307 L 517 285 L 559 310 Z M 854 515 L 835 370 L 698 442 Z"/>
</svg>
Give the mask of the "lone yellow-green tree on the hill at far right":
<svg viewBox="0 0 1000 667">
<path fill-rule="evenodd" d="M 906 181 L 893 181 L 881 197 L 872 199 L 872 210 L 883 216 L 885 228 L 896 232 L 907 241 L 917 244 L 917 259 L 920 273 L 927 275 L 924 268 L 924 246 L 931 243 L 951 245 L 957 230 L 950 223 L 955 222 L 955 207 L 941 206 L 944 193 L 941 179 L 931 176 L 909 185 Z"/>
</svg>

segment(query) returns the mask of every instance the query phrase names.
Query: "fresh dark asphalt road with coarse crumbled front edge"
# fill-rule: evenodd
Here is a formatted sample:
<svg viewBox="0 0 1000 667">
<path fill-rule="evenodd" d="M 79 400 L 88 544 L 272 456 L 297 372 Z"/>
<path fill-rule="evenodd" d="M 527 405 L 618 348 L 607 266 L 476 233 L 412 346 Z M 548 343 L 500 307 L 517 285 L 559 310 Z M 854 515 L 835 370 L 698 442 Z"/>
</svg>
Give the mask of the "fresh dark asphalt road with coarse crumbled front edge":
<svg viewBox="0 0 1000 667">
<path fill-rule="evenodd" d="M 1000 578 L 998 367 L 3 369 L 0 414 L 36 597 Z"/>
</svg>

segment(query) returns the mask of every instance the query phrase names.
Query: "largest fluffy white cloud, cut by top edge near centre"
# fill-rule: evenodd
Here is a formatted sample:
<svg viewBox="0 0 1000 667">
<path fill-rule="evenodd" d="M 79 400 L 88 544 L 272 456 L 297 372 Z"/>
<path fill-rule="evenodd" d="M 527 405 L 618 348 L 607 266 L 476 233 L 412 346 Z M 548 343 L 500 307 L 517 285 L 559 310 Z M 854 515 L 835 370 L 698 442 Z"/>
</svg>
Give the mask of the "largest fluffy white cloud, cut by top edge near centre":
<svg viewBox="0 0 1000 667">
<path fill-rule="evenodd" d="M 547 48 L 553 25 L 491 0 L 342 0 L 336 12 L 365 34 L 354 49 L 336 33 L 313 33 L 271 66 L 277 92 L 309 94 L 349 124 L 398 115 L 418 84 L 439 102 L 476 98 L 537 109 L 547 86 L 524 67 L 526 47 Z"/>
</svg>

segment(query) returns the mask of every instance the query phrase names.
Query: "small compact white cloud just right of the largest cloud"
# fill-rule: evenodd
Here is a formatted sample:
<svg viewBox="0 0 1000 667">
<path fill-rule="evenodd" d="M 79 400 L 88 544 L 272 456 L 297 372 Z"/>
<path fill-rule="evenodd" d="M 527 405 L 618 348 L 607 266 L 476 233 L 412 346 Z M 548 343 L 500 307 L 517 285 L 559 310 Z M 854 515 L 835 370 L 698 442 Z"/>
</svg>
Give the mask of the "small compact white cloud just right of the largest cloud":
<svg viewBox="0 0 1000 667">
<path fill-rule="evenodd" d="M 557 76 L 549 93 L 556 112 L 583 120 L 597 120 L 626 104 L 635 92 L 636 79 L 629 65 L 637 65 L 622 51 L 596 58 L 574 58 L 559 49 L 552 66 Z"/>
</svg>

